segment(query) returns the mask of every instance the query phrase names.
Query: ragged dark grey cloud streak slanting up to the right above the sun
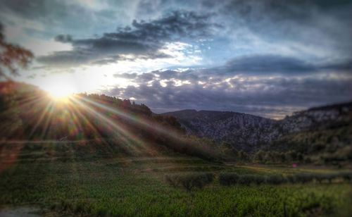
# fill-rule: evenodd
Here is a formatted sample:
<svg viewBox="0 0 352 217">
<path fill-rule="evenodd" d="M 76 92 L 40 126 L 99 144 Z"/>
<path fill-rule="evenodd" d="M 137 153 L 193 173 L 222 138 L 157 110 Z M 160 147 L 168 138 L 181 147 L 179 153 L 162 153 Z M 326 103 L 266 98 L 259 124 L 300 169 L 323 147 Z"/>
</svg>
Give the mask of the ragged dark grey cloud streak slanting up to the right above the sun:
<svg viewBox="0 0 352 217">
<path fill-rule="evenodd" d="M 219 25 L 210 23 L 210 16 L 191 11 L 174 11 L 149 22 L 133 20 L 132 26 L 104 33 L 102 37 L 73 39 L 70 35 L 58 35 L 55 39 L 72 44 L 73 50 L 57 51 L 37 59 L 54 66 L 79 66 L 126 60 L 126 55 L 132 55 L 131 61 L 137 58 L 170 58 L 170 55 L 161 51 L 168 42 L 196 40 L 213 34 L 213 28 Z"/>
</svg>

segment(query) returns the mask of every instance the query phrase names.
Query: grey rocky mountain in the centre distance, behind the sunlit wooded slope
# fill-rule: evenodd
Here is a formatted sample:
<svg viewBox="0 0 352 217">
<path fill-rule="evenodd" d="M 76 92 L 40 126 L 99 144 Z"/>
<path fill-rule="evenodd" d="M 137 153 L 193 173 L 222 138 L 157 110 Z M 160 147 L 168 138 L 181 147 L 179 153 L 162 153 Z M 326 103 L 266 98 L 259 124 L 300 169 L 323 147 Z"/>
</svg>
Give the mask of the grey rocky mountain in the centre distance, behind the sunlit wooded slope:
<svg viewBox="0 0 352 217">
<path fill-rule="evenodd" d="M 277 137 L 277 120 L 232 111 L 182 110 L 163 113 L 174 116 L 188 135 L 225 141 L 237 148 L 249 150 Z"/>
</svg>

